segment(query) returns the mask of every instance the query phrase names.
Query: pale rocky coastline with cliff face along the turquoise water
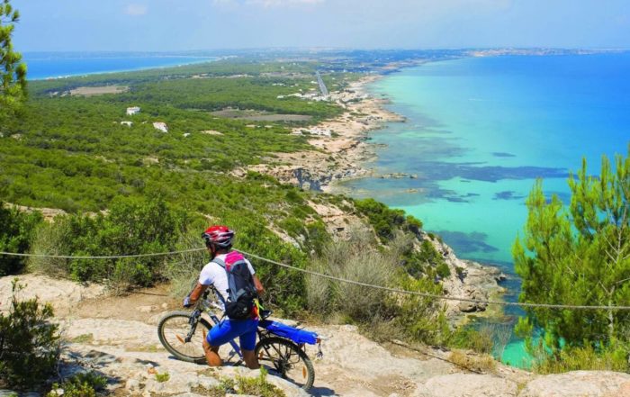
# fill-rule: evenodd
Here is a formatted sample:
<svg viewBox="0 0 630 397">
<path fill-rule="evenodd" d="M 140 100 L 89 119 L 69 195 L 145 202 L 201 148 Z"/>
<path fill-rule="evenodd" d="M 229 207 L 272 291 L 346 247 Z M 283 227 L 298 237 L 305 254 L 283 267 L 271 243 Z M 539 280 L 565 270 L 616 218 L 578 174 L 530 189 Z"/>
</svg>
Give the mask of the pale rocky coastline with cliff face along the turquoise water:
<svg viewBox="0 0 630 397">
<path fill-rule="evenodd" d="M 374 145 L 369 143 L 368 133 L 382 129 L 387 122 L 406 121 L 404 116 L 385 108 L 386 99 L 369 94 L 368 86 L 381 77 L 364 77 L 341 92 L 331 93 L 329 99 L 345 109 L 338 118 L 321 122 L 310 129 L 294 129 L 296 135 L 309 135 L 309 143 L 317 150 L 278 153 L 277 158 L 267 158 L 265 164 L 249 169 L 275 176 L 281 182 L 305 190 L 327 193 L 335 192 L 336 184 L 341 181 L 365 176 L 417 178 L 415 174 L 405 173 L 376 175 L 373 168 L 367 167 L 375 158 Z M 333 210 L 340 211 L 326 209 L 320 215 L 327 219 Z M 358 221 L 354 216 L 343 215 L 338 218 L 353 223 Z M 505 279 L 505 275 L 498 268 L 460 259 L 452 248 L 439 239 L 429 237 L 427 233 L 423 233 L 419 239 L 431 241 L 450 269 L 451 275 L 441 280 L 446 296 L 479 301 L 500 300 L 500 295 L 505 292 L 500 281 Z M 477 317 L 500 315 L 499 310 L 488 309 L 485 303 L 446 301 L 446 314 L 454 323 L 464 322 L 470 313 Z"/>
</svg>

